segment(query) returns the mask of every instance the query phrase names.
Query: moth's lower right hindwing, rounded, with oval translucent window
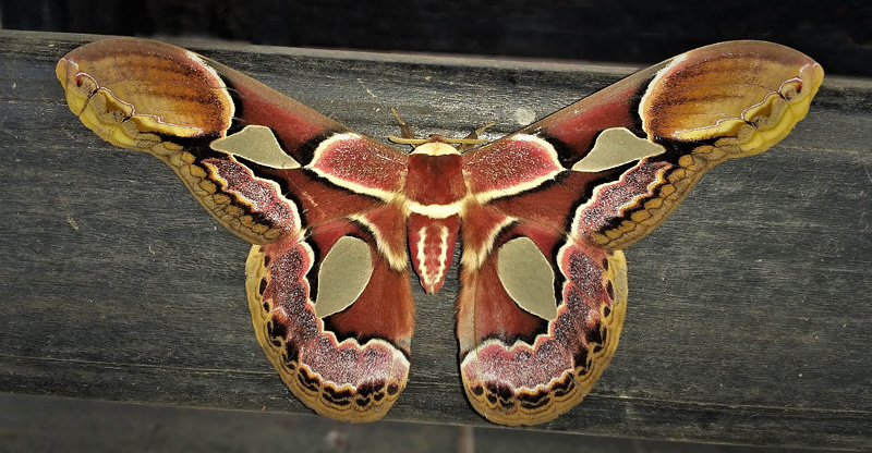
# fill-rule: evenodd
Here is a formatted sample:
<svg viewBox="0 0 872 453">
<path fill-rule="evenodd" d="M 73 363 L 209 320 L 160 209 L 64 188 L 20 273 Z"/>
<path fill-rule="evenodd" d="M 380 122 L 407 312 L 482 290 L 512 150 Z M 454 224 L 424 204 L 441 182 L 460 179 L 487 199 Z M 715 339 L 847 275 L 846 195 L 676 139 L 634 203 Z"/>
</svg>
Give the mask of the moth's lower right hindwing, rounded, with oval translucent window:
<svg viewBox="0 0 872 453">
<path fill-rule="evenodd" d="M 494 423 L 548 421 L 581 402 L 618 345 L 623 253 L 489 207 L 467 220 L 494 226 L 491 253 L 463 255 L 457 331 L 467 396 Z M 463 230 L 464 245 L 480 240 Z"/>
</svg>

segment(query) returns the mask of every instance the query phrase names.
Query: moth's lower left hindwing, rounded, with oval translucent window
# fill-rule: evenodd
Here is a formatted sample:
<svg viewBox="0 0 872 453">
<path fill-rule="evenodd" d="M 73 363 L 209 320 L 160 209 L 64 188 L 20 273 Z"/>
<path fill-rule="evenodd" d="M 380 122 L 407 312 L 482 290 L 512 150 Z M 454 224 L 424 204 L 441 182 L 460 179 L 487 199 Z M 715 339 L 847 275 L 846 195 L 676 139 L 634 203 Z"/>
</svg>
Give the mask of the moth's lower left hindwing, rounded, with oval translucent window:
<svg viewBox="0 0 872 453">
<path fill-rule="evenodd" d="M 402 211 L 383 210 L 382 224 L 403 231 Z M 409 375 L 409 269 L 392 268 L 378 241 L 338 220 L 255 245 L 246 265 L 257 340 L 300 401 L 339 420 L 382 418 Z"/>
</svg>

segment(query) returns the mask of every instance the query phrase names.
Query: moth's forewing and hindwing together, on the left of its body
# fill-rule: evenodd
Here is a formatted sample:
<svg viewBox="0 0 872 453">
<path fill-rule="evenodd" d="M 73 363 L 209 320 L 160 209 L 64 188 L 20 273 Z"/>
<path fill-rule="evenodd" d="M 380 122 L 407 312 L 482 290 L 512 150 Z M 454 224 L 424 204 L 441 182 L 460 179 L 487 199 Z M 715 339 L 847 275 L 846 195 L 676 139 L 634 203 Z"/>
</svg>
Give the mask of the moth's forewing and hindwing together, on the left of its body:
<svg viewBox="0 0 872 453">
<path fill-rule="evenodd" d="M 237 71 L 161 42 L 133 38 L 93 42 L 66 54 L 57 75 L 70 109 L 87 127 L 114 145 L 149 152 L 169 164 L 228 230 L 264 246 L 252 250 L 250 279 L 266 281 L 269 296 L 250 285 L 250 306 L 264 350 L 294 393 L 332 417 L 363 420 L 384 415 L 396 393 L 377 404 L 362 395 L 382 391 L 378 382 L 402 389 L 408 371 L 408 362 L 397 365 L 408 355 L 412 333 L 404 226 L 398 208 L 387 203 L 401 189 L 407 155 Z M 349 226 L 338 226 L 343 224 Z M 340 230 L 347 240 L 324 233 Z M 342 313 L 328 319 L 324 310 L 316 310 L 323 317 L 313 321 L 300 308 L 316 306 L 317 294 L 336 293 L 336 287 L 346 285 L 342 279 L 353 273 L 341 259 L 327 260 L 332 262 L 327 274 L 320 269 L 335 244 L 356 244 L 341 246 L 340 252 L 358 250 L 358 261 L 366 261 L 361 244 L 367 246 L 373 266 L 364 267 L 372 272 L 359 287 L 365 289 L 362 299 L 366 294 L 396 292 L 384 301 L 389 307 L 380 306 L 392 311 L 396 322 L 383 322 L 380 311 L 363 310 L 368 303 L 360 309 L 355 303 L 343 311 L 358 313 L 354 322 L 343 322 L 348 317 Z M 288 269 L 263 265 L 264 259 L 280 257 L 306 265 Z M 279 287 L 299 292 L 283 294 Z M 290 310 L 289 301 L 302 305 Z M 299 316 L 280 315 L 281 310 Z M 288 335 L 282 344 L 295 347 L 286 347 L 284 353 L 296 357 L 276 353 L 279 331 Z M 293 336 L 303 332 L 307 336 Z M 311 342 L 336 334 L 356 339 L 362 346 Z M 334 392 L 329 399 L 312 397 L 288 378 L 302 376 L 299 370 L 304 366 L 317 369 L 315 350 L 308 347 L 325 354 L 353 352 L 365 359 L 347 375 L 328 372 L 318 375 L 315 383 L 306 381 L 306 388 L 323 385 L 323 391 Z M 375 369 L 373 360 L 392 369 L 390 379 L 376 371 L 364 376 Z M 342 411 L 339 406 L 346 403 L 358 406 Z"/>
</svg>

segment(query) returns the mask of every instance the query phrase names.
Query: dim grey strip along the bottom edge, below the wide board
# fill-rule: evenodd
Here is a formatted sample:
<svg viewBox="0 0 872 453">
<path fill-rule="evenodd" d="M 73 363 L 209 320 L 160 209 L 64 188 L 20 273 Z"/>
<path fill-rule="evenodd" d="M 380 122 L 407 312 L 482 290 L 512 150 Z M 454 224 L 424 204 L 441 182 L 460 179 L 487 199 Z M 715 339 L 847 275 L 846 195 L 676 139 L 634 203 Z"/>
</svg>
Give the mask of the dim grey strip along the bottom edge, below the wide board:
<svg viewBox="0 0 872 453">
<path fill-rule="evenodd" d="M 748 453 L 747 445 L 687 444 L 408 421 L 347 424 L 304 414 L 152 406 L 0 393 L 1 452 L 213 453 L 218 451 L 529 453 Z M 583 445 L 581 449 L 580 445 Z M 834 450 L 754 448 L 753 453 Z"/>
</svg>

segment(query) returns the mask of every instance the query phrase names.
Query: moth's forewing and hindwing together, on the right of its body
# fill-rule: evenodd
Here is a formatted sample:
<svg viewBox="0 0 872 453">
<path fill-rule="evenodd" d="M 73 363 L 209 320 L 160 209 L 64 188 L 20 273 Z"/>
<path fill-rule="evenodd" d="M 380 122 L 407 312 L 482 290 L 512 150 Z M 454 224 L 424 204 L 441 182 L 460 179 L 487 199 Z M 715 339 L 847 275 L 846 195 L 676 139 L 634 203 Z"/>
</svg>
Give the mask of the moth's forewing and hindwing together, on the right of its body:
<svg viewBox="0 0 872 453">
<path fill-rule="evenodd" d="M 473 405 L 531 425 L 578 403 L 617 344 L 618 250 L 659 224 L 707 169 L 783 138 L 822 77 L 818 63 L 778 45 L 714 45 L 464 155 L 477 206 L 463 223 L 458 334 Z M 525 276 L 555 276 L 554 291 Z M 529 308 L 541 304 L 556 315 Z"/>
</svg>

